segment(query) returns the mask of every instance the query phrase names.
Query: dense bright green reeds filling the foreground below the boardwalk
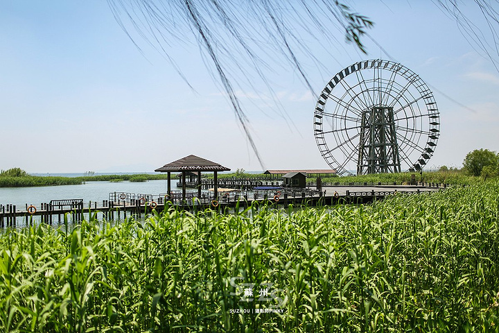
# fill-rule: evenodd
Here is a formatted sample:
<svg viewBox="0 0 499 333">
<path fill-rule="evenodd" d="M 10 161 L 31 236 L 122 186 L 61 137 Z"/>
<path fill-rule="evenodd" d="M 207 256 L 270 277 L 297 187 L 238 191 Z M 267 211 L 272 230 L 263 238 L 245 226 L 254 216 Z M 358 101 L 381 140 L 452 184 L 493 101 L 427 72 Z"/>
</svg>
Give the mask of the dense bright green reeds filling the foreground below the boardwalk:
<svg viewBox="0 0 499 333">
<path fill-rule="evenodd" d="M 2 332 L 499 332 L 499 183 L 0 235 Z"/>
</svg>

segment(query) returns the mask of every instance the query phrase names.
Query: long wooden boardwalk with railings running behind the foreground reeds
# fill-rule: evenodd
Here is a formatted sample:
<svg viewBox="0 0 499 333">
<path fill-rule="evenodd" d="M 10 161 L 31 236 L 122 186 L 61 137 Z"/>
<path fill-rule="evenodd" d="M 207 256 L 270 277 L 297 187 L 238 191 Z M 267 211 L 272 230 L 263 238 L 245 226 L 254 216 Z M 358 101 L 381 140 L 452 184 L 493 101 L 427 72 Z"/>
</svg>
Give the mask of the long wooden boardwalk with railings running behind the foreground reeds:
<svg viewBox="0 0 499 333">
<path fill-rule="evenodd" d="M 374 199 L 383 199 L 395 194 L 423 193 L 438 191 L 444 187 L 421 186 L 334 186 L 315 189 L 268 189 L 265 191 L 234 191 L 221 193 L 217 200 L 212 195 L 203 193 L 197 198 L 197 192 L 187 192 L 184 202 L 179 193 L 166 200 L 166 194 L 153 196 L 150 194 L 130 194 L 114 192 L 111 200 L 83 203 L 82 199 L 51 200 L 50 203 L 16 207 L 0 205 L 0 228 L 28 225 L 36 220 L 44 223 L 62 223 L 66 216 L 69 221 L 82 221 L 90 214 L 97 219 L 127 219 L 130 216 L 141 218 L 152 210 L 161 211 L 165 207 L 175 206 L 182 210 L 200 211 L 208 208 L 216 210 L 243 209 L 254 203 L 272 205 L 337 205 L 338 203 L 368 203 Z"/>
</svg>

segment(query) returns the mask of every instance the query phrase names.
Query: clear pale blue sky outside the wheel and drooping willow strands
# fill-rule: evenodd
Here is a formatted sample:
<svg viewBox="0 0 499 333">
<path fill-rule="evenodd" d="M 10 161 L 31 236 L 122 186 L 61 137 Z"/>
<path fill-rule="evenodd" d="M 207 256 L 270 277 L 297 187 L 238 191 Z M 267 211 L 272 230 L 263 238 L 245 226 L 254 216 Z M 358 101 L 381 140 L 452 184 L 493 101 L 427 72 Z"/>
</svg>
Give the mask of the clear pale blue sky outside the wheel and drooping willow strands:
<svg viewBox="0 0 499 333">
<path fill-rule="evenodd" d="M 303 60 L 315 94 L 360 60 L 401 62 L 430 85 L 439 107 L 430 167 L 461 167 L 477 148 L 499 151 L 499 73 L 452 19 L 432 1 L 351 4 L 375 22 L 370 34 L 389 56 L 369 40 L 363 55 L 335 32 L 329 52 L 310 50 L 322 67 Z M 471 5 L 463 9 L 480 24 Z M 161 53 L 138 38 L 141 51 L 134 46 L 105 1 L 0 6 L 0 169 L 153 171 L 194 154 L 233 170 L 261 170 L 194 42 L 177 42 L 170 54 L 193 90 Z M 242 84 L 238 96 L 265 169 L 326 169 L 313 136 L 317 100 L 297 71 L 283 65 L 270 72 L 274 97 L 256 82 Z"/>
</svg>

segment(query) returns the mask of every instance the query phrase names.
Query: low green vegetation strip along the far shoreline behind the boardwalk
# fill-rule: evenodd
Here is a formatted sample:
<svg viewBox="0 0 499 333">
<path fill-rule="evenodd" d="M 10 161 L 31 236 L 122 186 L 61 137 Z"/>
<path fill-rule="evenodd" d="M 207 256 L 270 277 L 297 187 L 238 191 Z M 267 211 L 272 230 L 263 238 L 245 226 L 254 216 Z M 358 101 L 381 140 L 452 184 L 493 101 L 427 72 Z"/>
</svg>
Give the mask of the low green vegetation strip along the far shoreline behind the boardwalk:
<svg viewBox="0 0 499 333">
<path fill-rule="evenodd" d="M 419 173 L 385 173 L 376 175 L 361 175 L 361 176 L 341 176 L 322 178 L 323 183 L 340 183 L 349 184 L 350 182 L 358 183 L 393 183 L 408 184 L 411 180 L 411 175 L 416 176 L 416 180 L 421 181 Z M 213 178 L 212 173 L 203 174 L 205 178 Z M 268 178 L 275 180 L 280 178 L 272 178 L 270 175 L 263 173 L 245 173 L 243 169 L 237 169 L 234 173 L 220 173 L 218 178 Z M 40 187 L 40 186 L 58 186 L 58 185 L 82 185 L 85 182 L 146 182 L 148 180 L 166 180 L 165 173 L 150 174 L 117 174 L 117 175 L 98 175 L 98 176 L 80 176 L 80 177 L 62 177 L 62 176 L 31 176 L 26 171 L 19 168 L 1 171 L 0 187 Z M 177 175 L 172 175 L 172 179 L 178 179 Z M 446 170 L 446 171 L 427 171 L 423 172 L 424 182 L 435 182 L 448 185 L 470 185 L 475 182 L 482 181 L 480 176 L 471 176 L 462 170 Z M 489 178 L 492 179 L 492 178 Z M 315 178 L 308 178 L 307 182 L 315 183 Z"/>
</svg>

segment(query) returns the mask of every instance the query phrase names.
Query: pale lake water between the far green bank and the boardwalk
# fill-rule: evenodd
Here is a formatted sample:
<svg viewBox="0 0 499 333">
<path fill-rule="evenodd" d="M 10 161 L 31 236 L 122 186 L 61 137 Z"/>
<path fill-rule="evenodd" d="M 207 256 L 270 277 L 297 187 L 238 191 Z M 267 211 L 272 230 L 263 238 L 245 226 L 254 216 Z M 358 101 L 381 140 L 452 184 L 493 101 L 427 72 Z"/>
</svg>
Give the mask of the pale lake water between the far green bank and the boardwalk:
<svg viewBox="0 0 499 333">
<path fill-rule="evenodd" d="M 177 189 L 176 179 L 170 180 L 171 189 Z M 61 185 L 42 187 L 0 187 L 0 205 L 16 205 L 17 210 L 24 210 L 25 205 L 40 207 L 40 203 L 50 200 L 83 199 L 86 205 L 91 202 L 107 200 L 112 192 L 133 194 L 166 194 L 167 180 L 149 180 L 147 182 L 86 182 L 82 185 Z M 195 191 L 194 189 L 187 189 Z"/>
</svg>

